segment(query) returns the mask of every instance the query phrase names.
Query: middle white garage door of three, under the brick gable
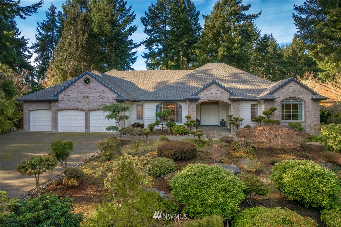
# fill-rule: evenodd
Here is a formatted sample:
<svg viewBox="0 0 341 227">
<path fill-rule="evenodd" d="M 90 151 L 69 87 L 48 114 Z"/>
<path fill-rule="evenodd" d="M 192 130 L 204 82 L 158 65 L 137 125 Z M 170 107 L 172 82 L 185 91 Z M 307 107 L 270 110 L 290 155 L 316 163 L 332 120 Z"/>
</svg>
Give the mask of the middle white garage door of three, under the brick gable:
<svg viewBox="0 0 341 227">
<path fill-rule="evenodd" d="M 85 132 L 85 111 L 75 109 L 58 111 L 58 132 Z"/>
</svg>

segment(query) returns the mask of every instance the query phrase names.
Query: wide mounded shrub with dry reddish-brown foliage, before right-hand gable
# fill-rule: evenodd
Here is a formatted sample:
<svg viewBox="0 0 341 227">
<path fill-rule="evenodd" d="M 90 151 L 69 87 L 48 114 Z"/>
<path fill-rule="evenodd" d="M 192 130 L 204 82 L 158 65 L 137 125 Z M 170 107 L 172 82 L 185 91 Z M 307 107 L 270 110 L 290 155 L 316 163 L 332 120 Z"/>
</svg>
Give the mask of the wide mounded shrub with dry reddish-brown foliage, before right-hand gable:
<svg viewBox="0 0 341 227">
<path fill-rule="evenodd" d="M 283 125 L 262 125 L 238 131 L 238 137 L 250 142 L 262 142 L 268 148 L 294 148 L 301 147 L 304 139 L 299 132 Z"/>
</svg>

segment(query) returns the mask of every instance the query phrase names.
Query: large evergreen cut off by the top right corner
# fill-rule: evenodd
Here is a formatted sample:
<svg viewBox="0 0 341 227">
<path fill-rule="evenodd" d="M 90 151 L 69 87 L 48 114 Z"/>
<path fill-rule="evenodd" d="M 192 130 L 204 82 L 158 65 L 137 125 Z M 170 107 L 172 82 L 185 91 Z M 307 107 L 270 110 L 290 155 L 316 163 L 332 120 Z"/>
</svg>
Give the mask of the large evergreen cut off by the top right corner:
<svg viewBox="0 0 341 227">
<path fill-rule="evenodd" d="M 298 37 L 307 45 L 318 67 L 318 76 L 332 80 L 341 73 L 341 4 L 340 1 L 307 0 L 294 5 Z"/>
</svg>

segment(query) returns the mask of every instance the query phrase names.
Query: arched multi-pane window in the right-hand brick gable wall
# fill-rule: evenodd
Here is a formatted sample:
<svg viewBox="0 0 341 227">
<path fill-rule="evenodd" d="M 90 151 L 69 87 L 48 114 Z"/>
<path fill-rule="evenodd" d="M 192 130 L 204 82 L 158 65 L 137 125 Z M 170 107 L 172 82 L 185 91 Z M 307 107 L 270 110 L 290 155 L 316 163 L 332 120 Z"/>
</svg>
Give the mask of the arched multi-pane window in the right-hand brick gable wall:
<svg viewBox="0 0 341 227">
<path fill-rule="evenodd" d="M 302 121 L 302 101 L 289 98 L 282 101 L 282 121 Z"/>
</svg>

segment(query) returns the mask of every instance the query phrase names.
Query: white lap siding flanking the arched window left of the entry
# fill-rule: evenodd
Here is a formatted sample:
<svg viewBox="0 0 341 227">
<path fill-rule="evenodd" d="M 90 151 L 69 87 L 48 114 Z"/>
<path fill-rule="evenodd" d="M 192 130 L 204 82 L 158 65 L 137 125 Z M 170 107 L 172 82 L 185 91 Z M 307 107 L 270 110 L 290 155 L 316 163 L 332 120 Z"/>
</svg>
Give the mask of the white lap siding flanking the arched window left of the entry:
<svg viewBox="0 0 341 227">
<path fill-rule="evenodd" d="M 145 118 L 145 128 L 148 124 L 154 123 L 155 118 L 155 111 L 156 106 L 161 102 L 145 102 L 144 104 L 144 118 Z M 186 122 L 186 115 L 187 115 L 187 102 L 176 102 L 182 106 L 182 122 L 176 122 L 176 124 L 184 124 Z M 136 109 L 136 108 L 135 108 Z"/>
</svg>

